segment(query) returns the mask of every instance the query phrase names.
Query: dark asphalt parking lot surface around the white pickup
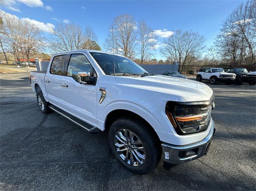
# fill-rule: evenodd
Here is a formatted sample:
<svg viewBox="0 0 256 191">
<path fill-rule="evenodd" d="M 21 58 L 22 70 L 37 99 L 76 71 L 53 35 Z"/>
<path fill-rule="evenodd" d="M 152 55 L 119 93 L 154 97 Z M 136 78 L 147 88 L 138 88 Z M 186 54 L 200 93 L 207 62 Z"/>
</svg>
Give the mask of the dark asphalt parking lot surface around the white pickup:
<svg viewBox="0 0 256 191">
<path fill-rule="evenodd" d="M 40 112 L 28 73 L 0 74 L 1 190 L 256 190 L 256 86 L 209 85 L 216 133 L 207 156 L 136 175 L 90 134 Z"/>
</svg>

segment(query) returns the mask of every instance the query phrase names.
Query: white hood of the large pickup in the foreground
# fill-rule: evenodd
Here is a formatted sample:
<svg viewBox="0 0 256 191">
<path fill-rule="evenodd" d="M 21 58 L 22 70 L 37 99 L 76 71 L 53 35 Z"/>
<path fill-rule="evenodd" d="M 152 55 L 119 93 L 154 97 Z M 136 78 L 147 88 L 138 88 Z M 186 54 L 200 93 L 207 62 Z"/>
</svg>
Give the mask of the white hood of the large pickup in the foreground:
<svg viewBox="0 0 256 191">
<path fill-rule="evenodd" d="M 212 89 L 204 83 L 177 77 L 152 75 L 115 78 L 121 85 L 180 96 L 186 102 L 209 100 L 213 94 Z"/>
</svg>

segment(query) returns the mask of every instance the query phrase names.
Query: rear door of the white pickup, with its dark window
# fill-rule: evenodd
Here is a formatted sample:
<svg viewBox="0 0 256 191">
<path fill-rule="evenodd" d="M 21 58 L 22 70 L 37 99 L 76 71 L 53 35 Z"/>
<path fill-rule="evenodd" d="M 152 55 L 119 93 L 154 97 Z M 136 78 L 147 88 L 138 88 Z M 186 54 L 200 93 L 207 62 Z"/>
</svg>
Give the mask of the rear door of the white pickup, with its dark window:
<svg viewBox="0 0 256 191">
<path fill-rule="evenodd" d="M 60 107 L 62 105 L 61 83 L 62 76 L 64 75 L 65 60 L 66 55 L 55 56 L 52 60 L 49 71 L 44 77 L 48 100 L 52 104 Z"/>
</svg>

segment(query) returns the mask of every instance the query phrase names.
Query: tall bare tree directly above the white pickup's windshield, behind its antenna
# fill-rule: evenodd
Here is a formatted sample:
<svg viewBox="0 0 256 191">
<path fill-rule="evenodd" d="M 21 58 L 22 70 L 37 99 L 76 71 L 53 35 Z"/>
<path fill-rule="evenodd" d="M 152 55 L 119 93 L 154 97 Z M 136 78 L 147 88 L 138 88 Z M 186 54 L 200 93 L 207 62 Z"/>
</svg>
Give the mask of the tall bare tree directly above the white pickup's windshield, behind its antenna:
<svg viewBox="0 0 256 191">
<path fill-rule="evenodd" d="M 116 17 L 109 29 L 104 48 L 132 59 L 136 54 L 137 44 L 137 26 L 134 18 L 128 14 Z"/>
</svg>

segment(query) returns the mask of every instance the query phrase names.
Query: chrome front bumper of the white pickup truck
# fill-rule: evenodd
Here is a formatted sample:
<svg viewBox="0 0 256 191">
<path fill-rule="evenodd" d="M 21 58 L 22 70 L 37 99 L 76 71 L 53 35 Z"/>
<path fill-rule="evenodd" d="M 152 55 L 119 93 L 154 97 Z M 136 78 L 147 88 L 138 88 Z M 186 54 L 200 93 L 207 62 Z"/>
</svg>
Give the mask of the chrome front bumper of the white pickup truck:
<svg viewBox="0 0 256 191">
<path fill-rule="evenodd" d="M 162 143 L 163 160 L 170 164 L 179 164 L 204 156 L 210 147 L 210 143 L 214 136 L 215 125 L 212 120 L 210 132 L 206 138 L 200 142 L 189 145 L 176 146 L 172 144 Z"/>
</svg>

